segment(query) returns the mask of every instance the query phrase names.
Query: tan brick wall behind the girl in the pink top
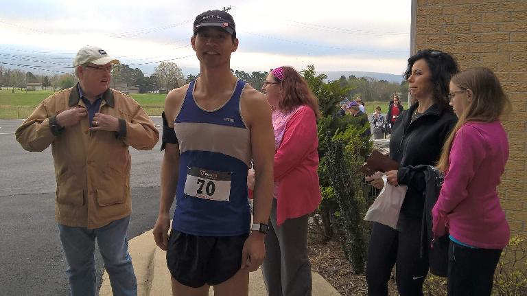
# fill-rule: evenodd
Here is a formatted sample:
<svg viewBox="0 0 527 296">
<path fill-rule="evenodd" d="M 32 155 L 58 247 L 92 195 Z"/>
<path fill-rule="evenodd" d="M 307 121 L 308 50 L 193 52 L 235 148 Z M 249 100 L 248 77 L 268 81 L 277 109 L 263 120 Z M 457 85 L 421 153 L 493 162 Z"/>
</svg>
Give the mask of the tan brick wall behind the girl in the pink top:
<svg viewBox="0 0 527 296">
<path fill-rule="evenodd" d="M 414 0 L 414 49 L 440 49 L 461 69 L 489 67 L 513 111 L 510 157 L 498 190 L 512 234 L 527 236 L 527 1 Z"/>
</svg>

